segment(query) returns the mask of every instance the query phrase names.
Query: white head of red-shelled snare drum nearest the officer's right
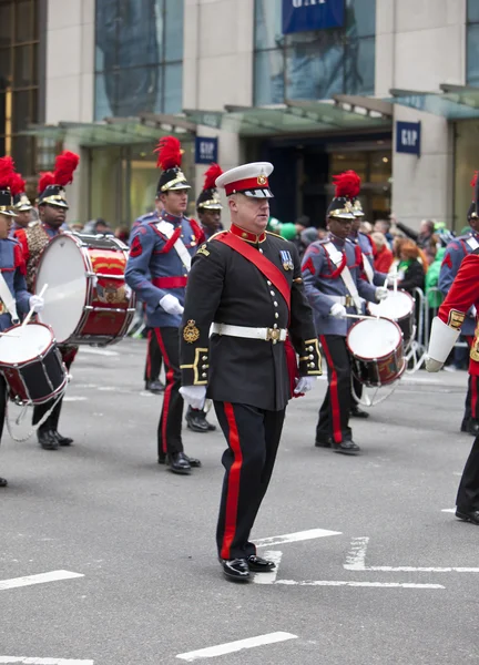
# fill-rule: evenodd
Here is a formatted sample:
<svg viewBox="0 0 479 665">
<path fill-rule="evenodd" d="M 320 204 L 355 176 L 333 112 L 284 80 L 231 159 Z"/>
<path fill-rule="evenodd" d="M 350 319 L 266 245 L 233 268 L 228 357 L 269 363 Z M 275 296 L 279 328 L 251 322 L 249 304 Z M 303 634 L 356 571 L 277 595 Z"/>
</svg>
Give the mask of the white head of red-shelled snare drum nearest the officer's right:
<svg viewBox="0 0 479 665">
<path fill-rule="evenodd" d="M 348 332 L 350 352 L 357 358 L 374 360 L 393 352 L 401 342 L 401 331 L 389 319 L 365 319 Z"/>
</svg>

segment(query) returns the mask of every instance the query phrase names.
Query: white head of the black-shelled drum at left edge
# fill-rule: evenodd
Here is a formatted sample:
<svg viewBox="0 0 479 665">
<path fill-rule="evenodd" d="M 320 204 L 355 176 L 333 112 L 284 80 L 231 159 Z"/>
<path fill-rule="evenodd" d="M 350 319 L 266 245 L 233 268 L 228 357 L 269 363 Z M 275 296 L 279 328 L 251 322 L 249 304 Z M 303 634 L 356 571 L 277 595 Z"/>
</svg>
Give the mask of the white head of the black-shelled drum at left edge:
<svg viewBox="0 0 479 665">
<path fill-rule="evenodd" d="M 32 360 L 44 354 L 52 341 L 52 331 L 47 326 L 29 324 L 24 328 L 10 328 L 0 336 L 0 362 L 16 365 Z"/>
</svg>

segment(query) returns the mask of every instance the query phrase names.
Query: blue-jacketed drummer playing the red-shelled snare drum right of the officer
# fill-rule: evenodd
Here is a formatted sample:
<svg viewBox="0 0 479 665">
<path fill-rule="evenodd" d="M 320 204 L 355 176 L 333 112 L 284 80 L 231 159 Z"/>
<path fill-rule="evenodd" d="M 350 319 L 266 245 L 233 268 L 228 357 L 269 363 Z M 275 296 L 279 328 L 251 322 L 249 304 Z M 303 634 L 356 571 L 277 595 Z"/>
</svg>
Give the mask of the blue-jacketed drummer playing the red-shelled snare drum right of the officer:
<svg viewBox="0 0 479 665">
<path fill-rule="evenodd" d="M 351 368 L 346 336 L 351 321 L 345 316 L 363 314 L 363 300 L 386 298 L 387 288 L 363 278 L 360 247 L 349 239 L 355 219 L 349 197 L 335 196 L 327 217 L 329 236 L 309 245 L 303 257 L 305 289 L 328 367 L 329 385 L 319 410 L 316 446 L 357 454 L 360 449 L 349 427 Z"/>
</svg>

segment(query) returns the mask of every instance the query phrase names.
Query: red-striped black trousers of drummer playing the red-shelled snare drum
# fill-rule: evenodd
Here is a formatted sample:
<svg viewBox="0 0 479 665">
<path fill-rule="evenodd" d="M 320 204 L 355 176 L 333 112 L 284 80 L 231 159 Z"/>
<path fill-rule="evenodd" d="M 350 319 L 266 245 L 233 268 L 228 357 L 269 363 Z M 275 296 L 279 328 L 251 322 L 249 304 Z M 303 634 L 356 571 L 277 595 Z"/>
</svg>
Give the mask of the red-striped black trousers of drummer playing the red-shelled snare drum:
<svg viewBox="0 0 479 665">
<path fill-rule="evenodd" d="M 328 389 L 319 409 L 316 439 L 333 437 L 335 443 L 349 440 L 349 412 L 351 408 L 351 368 L 346 337 L 320 335 L 328 369 Z"/>
</svg>

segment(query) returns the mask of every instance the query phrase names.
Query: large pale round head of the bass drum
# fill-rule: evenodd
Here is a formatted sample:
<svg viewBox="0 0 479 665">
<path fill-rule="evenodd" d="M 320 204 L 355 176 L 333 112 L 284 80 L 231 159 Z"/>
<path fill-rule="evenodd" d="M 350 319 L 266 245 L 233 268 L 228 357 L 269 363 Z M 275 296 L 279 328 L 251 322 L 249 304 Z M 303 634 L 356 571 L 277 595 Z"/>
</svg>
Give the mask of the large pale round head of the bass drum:
<svg viewBox="0 0 479 665">
<path fill-rule="evenodd" d="M 47 245 L 39 265 L 35 293 L 48 284 L 39 320 L 53 328 L 59 344 L 71 337 L 86 301 L 86 268 L 75 241 L 61 235 Z"/>
</svg>

